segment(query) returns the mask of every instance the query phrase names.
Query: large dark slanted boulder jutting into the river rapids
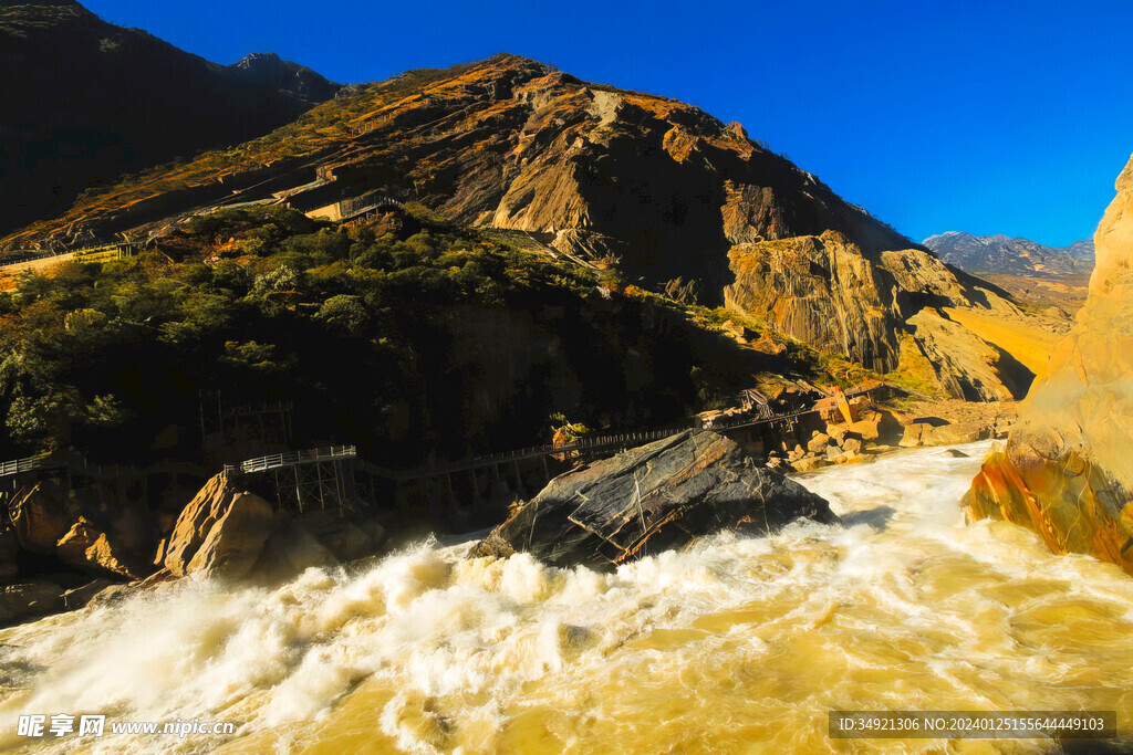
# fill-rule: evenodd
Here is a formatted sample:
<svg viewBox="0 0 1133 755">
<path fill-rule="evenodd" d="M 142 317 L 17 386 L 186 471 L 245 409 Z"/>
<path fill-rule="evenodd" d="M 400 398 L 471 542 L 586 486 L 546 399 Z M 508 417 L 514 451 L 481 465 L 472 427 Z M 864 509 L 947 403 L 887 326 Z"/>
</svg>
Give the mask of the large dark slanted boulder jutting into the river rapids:
<svg viewBox="0 0 1133 755">
<path fill-rule="evenodd" d="M 838 521 L 734 441 L 688 430 L 555 478 L 470 555 L 528 551 L 555 566 L 608 567 L 723 529 L 761 533 L 803 516 Z"/>
</svg>

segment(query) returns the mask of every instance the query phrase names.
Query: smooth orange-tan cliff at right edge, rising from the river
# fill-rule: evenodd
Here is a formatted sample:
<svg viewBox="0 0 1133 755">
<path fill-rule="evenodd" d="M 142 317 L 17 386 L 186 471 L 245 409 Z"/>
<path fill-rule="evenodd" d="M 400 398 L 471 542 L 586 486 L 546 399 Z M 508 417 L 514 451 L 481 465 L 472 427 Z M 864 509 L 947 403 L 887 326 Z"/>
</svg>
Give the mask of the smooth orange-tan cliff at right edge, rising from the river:
<svg viewBox="0 0 1133 755">
<path fill-rule="evenodd" d="M 1133 574 L 1133 161 L 1116 188 L 1085 307 L 965 505 Z"/>
</svg>

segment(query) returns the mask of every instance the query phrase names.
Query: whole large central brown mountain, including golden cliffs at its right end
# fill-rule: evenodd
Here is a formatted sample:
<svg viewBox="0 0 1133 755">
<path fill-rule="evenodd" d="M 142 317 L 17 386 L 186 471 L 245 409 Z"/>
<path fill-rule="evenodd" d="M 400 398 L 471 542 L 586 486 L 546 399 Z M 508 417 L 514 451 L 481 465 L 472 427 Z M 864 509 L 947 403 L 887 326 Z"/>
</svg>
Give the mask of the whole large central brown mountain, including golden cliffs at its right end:
<svg viewBox="0 0 1133 755">
<path fill-rule="evenodd" d="M 1031 379 L 944 311 L 1021 317 L 1006 292 L 948 267 L 739 123 L 509 54 L 350 87 L 265 137 L 88 192 L 0 249 L 160 239 L 249 201 L 338 221 L 378 198 L 518 231 L 654 290 L 696 292 L 880 372 L 928 360 L 926 379 L 955 396 L 1020 397 Z"/>
</svg>

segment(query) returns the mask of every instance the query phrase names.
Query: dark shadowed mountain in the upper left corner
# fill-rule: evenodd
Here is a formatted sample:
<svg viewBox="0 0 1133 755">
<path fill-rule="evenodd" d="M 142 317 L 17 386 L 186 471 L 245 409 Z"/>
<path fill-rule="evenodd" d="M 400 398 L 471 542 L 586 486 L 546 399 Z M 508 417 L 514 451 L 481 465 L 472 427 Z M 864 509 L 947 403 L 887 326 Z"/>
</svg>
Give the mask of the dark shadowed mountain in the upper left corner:
<svg viewBox="0 0 1133 755">
<path fill-rule="evenodd" d="M 67 0 L 0 2 L 0 233 L 122 173 L 254 138 L 334 96 L 273 54 L 220 66 Z"/>
</svg>

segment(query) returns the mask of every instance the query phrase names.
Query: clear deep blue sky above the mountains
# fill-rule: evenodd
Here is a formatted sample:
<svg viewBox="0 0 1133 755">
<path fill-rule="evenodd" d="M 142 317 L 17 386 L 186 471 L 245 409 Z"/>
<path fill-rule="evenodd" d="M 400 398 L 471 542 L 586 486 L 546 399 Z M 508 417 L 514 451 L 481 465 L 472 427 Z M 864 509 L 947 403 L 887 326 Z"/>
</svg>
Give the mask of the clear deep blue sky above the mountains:
<svg viewBox="0 0 1133 755">
<path fill-rule="evenodd" d="M 1064 246 L 1133 152 L 1128 0 L 87 0 L 210 60 L 339 81 L 513 52 L 738 120 L 915 240 Z"/>
</svg>

